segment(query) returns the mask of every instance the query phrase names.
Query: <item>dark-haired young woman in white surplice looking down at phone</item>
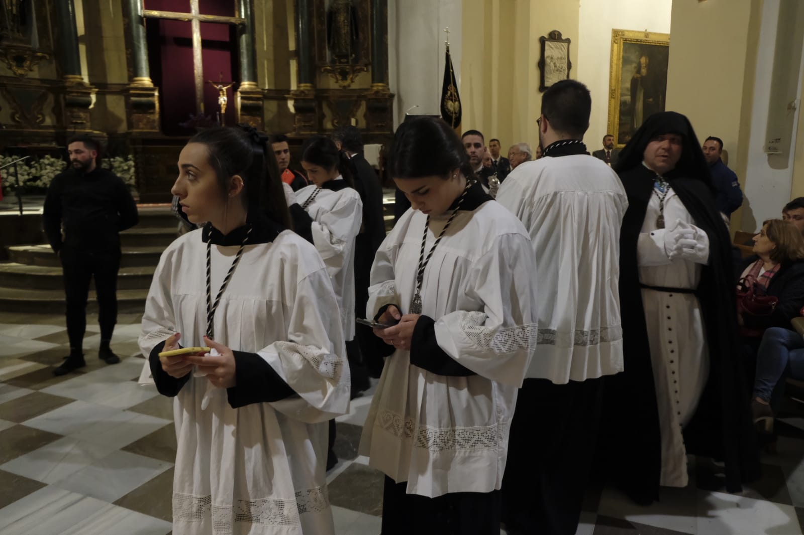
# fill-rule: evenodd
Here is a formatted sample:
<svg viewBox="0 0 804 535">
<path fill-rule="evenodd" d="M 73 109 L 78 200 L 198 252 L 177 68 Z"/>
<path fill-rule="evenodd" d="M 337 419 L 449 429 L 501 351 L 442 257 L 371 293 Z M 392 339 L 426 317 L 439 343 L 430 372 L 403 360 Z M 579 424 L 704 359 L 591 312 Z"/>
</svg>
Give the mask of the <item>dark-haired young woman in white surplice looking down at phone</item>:
<svg viewBox="0 0 804 535">
<path fill-rule="evenodd" d="M 412 209 L 371 269 L 367 314 L 399 323 L 375 329 L 395 350 L 360 444 L 388 476 L 383 534 L 499 533 L 508 427 L 536 339 L 530 238 L 467 182 L 443 121 L 405 121 L 391 153 Z"/>
</svg>

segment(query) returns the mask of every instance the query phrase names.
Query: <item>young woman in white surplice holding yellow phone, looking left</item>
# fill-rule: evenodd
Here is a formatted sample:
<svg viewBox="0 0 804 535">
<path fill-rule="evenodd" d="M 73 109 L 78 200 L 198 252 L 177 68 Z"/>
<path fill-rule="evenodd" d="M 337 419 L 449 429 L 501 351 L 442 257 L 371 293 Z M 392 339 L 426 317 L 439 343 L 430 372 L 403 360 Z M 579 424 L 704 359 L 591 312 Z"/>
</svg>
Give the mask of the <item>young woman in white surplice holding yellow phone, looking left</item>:
<svg viewBox="0 0 804 535">
<path fill-rule="evenodd" d="M 183 149 L 173 193 L 210 223 L 162 254 L 142 318 L 154 382 L 176 397 L 177 535 L 334 533 L 326 421 L 349 402 L 338 304 L 318 252 L 286 230 L 278 181 L 260 203 L 252 137 L 207 129 Z M 179 341 L 215 351 L 160 359 Z"/>
</svg>

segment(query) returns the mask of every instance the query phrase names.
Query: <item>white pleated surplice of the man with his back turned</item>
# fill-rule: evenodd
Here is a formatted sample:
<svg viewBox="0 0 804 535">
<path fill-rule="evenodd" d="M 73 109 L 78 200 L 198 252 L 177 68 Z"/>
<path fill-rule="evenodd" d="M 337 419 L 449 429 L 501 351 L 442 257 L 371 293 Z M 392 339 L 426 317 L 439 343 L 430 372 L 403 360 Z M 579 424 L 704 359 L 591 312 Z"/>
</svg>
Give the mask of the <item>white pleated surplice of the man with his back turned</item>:
<svg viewBox="0 0 804 535">
<path fill-rule="evenodd" d="M 518 165 L 497 200 L 530 231 L 539 269 L 539 340 L 528 378 L 556 384 L 621 372 L 617 174 L 585 154 Z"/>
</svg>

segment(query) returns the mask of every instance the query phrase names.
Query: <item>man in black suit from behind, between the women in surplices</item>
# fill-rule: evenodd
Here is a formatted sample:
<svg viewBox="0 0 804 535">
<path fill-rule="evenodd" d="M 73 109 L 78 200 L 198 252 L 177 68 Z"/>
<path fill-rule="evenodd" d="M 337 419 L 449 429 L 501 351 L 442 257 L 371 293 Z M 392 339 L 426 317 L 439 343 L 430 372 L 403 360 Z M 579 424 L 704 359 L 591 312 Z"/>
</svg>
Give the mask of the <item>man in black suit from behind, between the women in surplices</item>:
<svg viewBox="0 0 804 535">
<path fill-rule="evenodd" d="M 371 164 L 363 157 L 363 137 L 360 131 L 354 126 L 341 126 L 332 133 L 332 141 L 338 145 L 338 149 L 349 157 L 352 175 L 355 178 L 355 190 L 360 194 L 363 201 L 363 224 L 355 241 L 355 310 L 362 317 L 366 310 L 368 301 L 369 274 L 371 264 L 374 263 L 374 256 L 377 253 L 380 243 L 385 239 L 385 220 L 383 217 L 383 187 L 379 183 L 379 177 Z M 356 341 L 359 345 L 359 353 L 363 356 L 374 354 L 371 349 L 371 342 L 378 340 L 371 332 L 371 329 L 364 325 L 357 325 Z M 347 342 L 349 344 L 349 342 Z M 347 353 L 349 353 L 347 348 Z M 357 353 L 352 348 L 351 353 Z M 363 366 L 359 364 L 357 368 L 350 359 L 351 374 L 353 378 L 352 390 L 365 390 L 368 388 L 367 374 Z M 363 358 L 365 361 L 365 358 Z M 373 362 L 367 362 L 371 365 Z M 381 364 L 381 363 L 380 363 Z M 377 370 L 371 370 L 376 374 Z M 381 371 L 381 368 L 379 369 Z M 357 376 L 357 377 L 356 377 Z M 379 374 L 377 374 L 379 377 Z M 357 392 L 353 392 L 353 395 Z"/>
</svg>

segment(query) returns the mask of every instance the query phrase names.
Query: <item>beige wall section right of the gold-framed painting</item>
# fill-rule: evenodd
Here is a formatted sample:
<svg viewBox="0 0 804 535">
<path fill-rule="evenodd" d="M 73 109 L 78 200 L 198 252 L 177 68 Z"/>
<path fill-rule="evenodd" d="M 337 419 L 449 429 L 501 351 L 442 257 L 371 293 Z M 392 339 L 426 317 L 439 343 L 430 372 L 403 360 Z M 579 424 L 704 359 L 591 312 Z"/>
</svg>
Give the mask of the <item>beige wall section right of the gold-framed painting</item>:
<svg viewBox="0 0 804 535">
<path fill-rule="evenodd" d="M 687 115 L 700 141 L 723 139 L 744 188 L 760 19 L 761 0 L 673 2 L 667 110 Z"/>
</svg>

